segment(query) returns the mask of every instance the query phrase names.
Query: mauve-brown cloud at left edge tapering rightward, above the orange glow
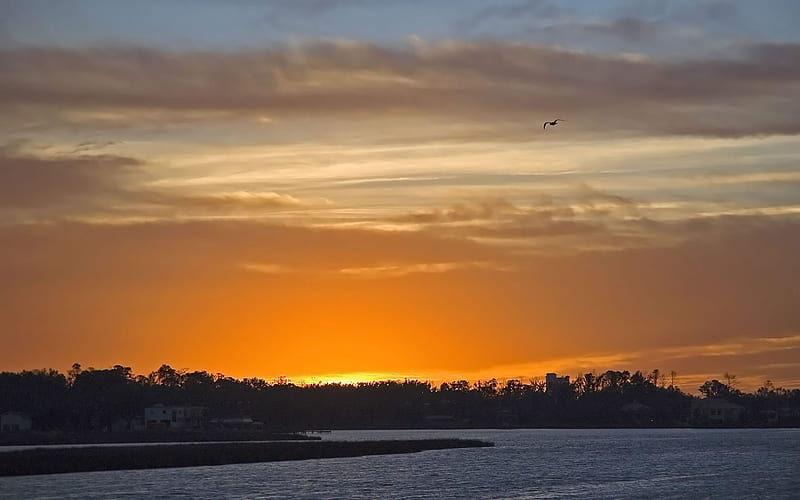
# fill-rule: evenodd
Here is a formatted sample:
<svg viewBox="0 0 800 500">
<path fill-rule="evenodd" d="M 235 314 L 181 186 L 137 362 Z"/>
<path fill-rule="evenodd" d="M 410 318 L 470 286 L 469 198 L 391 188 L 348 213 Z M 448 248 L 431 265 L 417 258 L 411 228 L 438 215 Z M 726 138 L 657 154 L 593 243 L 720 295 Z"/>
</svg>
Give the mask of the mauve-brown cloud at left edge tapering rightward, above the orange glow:
<svg viewBox="0 0 800 500">
<path fill-rule="evenodd" d="M 151 174 L 146 172 L 144 161 L 94 153 L 114 144 L 86 142 L 69 153 L 52 153 L 48 147 L 25 140 L 0 145 L 0 221 L 9 214 L 36 220 L 110 214 L 202 216 L 312 206 L 273 191 L 156 190 L 146 185 Z M 318 200 L 316 204 L 324 202 Z"/>
</svg>

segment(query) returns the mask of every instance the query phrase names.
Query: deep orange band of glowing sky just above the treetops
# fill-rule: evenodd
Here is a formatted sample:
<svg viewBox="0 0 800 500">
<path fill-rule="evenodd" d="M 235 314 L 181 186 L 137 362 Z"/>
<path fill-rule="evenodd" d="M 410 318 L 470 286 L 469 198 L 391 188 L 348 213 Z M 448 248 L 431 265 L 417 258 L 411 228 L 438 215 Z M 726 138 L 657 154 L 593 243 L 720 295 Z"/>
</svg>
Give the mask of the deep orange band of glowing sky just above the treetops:
<svg viewBox="0 0 800 500">
<path fill-rule="evenodd" d="M 22 226 L 2 239 L 2 362 L 298 381 L 660 368 L 792 384 L 798 242 L 793 223 L 757 223 L 668 248 L 536 256 L 241 221 Z"/>
</svg>

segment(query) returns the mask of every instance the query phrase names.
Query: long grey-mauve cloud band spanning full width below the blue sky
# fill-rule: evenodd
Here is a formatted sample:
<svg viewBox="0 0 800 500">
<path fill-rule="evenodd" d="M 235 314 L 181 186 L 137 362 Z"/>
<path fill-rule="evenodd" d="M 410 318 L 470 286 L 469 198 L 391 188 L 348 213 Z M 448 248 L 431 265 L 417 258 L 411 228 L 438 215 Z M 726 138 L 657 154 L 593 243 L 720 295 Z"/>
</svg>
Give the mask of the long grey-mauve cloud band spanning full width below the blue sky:
<svg viewBox="0 0 800 500">
<path fill-rule="evenodd" d="M 685 62 L 491 41 L 331 41 L 232 53 L 6 49 L 0 66 L 0 109 L 40 125 L 85 125 L 93 116 L 134 126 L 378 115 L 476 126 L 489 120 L 485 137 L 530 140 L 534 115 L 538 122 L 558 114 L 570 119 L 571 134 L 800 132 L 797 44 Z"/>
</svg>

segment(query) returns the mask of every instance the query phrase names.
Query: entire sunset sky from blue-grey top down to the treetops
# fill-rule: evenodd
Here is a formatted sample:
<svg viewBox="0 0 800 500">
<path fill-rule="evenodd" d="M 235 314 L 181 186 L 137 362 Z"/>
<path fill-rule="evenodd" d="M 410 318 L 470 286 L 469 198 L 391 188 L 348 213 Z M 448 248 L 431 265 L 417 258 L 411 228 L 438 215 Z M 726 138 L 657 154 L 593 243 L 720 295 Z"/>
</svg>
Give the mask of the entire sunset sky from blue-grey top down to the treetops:
<svg viewBox="0 0 800 500">
<path fill-rule="evenodd" d="M 798 18 L 0 0 L 0 370 L 800 387 Z"/>
</svg>

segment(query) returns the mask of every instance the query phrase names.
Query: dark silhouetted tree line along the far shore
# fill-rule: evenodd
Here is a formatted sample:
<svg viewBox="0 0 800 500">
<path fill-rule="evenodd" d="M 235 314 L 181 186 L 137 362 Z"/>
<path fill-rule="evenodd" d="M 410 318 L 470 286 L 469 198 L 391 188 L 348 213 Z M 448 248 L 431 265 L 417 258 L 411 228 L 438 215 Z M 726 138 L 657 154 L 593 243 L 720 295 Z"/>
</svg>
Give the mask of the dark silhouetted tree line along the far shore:
<svg viewBox="0 0 800 500">
<path fill-rule="evenodd" d="M 800 425 L 800 390 L 767 381 L 752 393 L 735 377 L 710 380 L 706 398 L 743 407 L 740 425 Z M 669 376 L 608 370 L 547 387 L 539 380 L 419 380 L 296 385 L 235 379 L 162 365 L 148 375 L 115 365 L 66 374 L 53 369 L 0 373 L 0 413 L 24 412 L 38 430 L 133 427 L 154 404 L 203 406 L 209 418 L 249 416 L 270 430 L 431 427 L 677 427 L 692 424 L 692 402 Z"/>
</svg>

